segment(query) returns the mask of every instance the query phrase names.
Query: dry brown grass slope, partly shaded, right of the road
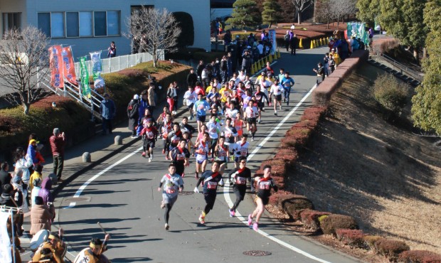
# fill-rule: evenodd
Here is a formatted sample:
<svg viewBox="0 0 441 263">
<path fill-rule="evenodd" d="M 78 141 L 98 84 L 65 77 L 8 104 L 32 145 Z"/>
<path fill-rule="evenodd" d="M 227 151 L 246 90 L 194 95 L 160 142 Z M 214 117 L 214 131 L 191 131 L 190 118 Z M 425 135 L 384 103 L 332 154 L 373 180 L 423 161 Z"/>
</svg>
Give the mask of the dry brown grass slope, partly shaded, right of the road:
<svg viewBox="0 0 441 263">
<path fill-rule="evenodd" d="M 369 235 L 440 253 L 440 150 L 382 119 L 371 99 L 378 73 L 363 65 L 344 82 L 287 189 L 354 216 Z"/>
</svg>

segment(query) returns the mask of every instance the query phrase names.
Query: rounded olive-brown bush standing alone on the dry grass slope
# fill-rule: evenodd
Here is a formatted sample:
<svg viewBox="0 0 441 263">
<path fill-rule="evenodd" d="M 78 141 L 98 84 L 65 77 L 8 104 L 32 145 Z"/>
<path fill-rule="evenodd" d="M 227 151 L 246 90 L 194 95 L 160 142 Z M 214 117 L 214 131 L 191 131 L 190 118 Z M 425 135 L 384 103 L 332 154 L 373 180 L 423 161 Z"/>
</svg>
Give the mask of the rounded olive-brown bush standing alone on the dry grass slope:
<svg viewBox="0 0 441 263">
<path fill-rule="evenodd" d="M 373 84 L 373 97 L 381 106 L 398 116 L 409 95 L 409 86 L 391 74 L 377 77 Z"/>
</svg>

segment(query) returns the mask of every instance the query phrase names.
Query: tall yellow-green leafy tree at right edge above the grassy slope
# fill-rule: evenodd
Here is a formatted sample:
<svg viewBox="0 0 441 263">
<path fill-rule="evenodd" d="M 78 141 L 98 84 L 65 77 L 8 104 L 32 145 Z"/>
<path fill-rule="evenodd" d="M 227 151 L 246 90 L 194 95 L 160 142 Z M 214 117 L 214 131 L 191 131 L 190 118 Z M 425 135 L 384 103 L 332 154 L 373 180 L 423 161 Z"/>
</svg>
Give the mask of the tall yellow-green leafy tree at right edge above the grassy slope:
<svg viewBox="0 0 441 263">
<path fill-rule="evenodd" d="M 428 58 L 423 59 L 423 83 L 412 98 L 415 125 L 426 131 L 434 130 L 441 136 L 441 1 L 425 4 L 424 22 L 429 33 L 425 39 Z"/>
</svg>

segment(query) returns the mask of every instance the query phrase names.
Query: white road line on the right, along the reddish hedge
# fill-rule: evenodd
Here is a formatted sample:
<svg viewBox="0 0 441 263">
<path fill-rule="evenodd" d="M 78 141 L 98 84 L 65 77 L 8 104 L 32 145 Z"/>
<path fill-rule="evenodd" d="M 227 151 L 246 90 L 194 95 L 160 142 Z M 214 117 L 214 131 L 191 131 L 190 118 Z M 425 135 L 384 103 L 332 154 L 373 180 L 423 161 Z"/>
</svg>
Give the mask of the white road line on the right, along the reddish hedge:
<svg viewBox="0 0 441 263">
<path fill-rule="evenodd" d="M 255 154 L 257 153 L 257 151 L 259 151 L 262 146 L 265 145 L 265 143 L 272 137 L 272 135 L 275 134 L 275 132 L 277 132 L 278 129 L 280 129 L 280 127 L 282 127 L 282 125 L 289 119 L 289 117 L 292 116 L 292 114 L 294 114 L 294 112 L 303 104 L 303 102 L 307 99 L 307 97 L 309 97 L 309 95 L 311 95 L 311 93 L 314 91 L 314 89 L 317 87 L 317 85 L 314 85 L 311 90 L 309 90 L 309 92 L 307 93 L 307 95 L 304 95 L 304 97 L 302 98 L 302 100 L 299 101 L 299 103 L 297 103 L 297 105 L 291 110 L 291 112 L 289 112 L 289 114 L 287 114 L 287 116 L 285 118 L 282 119 L 282 122 L 280 122 L 275 129 L 272 130 L 272 132 L 270 132 L 270 134 L 268 134 L 268 136 L 265 137 L 265 139 L 263 139 L 263 141 L 260 142 L 260 144 L 257 145 L 257 147 L 253 150 L 253 152 L 248 156 L 248 161 L 250 159 L 253 158 L 253 156 L 255 156 Z M 225 198 L 225 201 L 228 204 L 228 207 L 232 207 L 233 206 L 233 200 L 231 200 L 230 198 L 230 186 L 225 186 L 223 188 L 223 197 Z M 245 225 L 248 225 L 248 218 L 244 218 L 243 215 L 241 215 L 237 210 L 236 210 L 236 217 L 242 221 Z M 297 247 L 294 247 L 292 245 L 289 245 L 287 242 L 284 242 L 282 240 L 277 239 L 276 237 L 273 237 L 272 235 L 268 234 L 267 232 L 264 232 L 262 230 L 257 230 L 257 233 L 259 233 L 260 235 L 269 238 L 270 240 L 277 242 L 277 244 L 282 245 L 284 247 L 287 247 L 288 249 L 291 249 L 294 252 L 297 252 L 299 254 L 304 255 L 305 257 L 309 257 L 310 259 L 314 259 L 317 262 L 322 262 L 322 263 L 330 263 L 327 262 L 324 259 L 319 259 L 318 257 L 313 256 L 312 254 L 309 254 L 308 252 L 304 252 L 302 249 L 299 249 Z"/>
</svg>

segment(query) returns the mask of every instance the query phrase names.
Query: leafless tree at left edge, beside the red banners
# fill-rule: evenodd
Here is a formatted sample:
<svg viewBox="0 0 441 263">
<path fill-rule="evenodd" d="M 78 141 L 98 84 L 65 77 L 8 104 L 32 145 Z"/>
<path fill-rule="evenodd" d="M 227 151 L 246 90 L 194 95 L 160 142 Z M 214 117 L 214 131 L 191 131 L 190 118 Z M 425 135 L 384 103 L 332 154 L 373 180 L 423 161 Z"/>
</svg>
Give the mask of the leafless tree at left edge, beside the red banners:
<svg viewBox="0 0 441 263">
<path fill-rule="evenodd" d="M 38 28 L 28 26 L 4 33 L 0 44 L 0 78 L 4 86 L 14 90 L 6 99 L 11 104 L 21 104 L 25 115 L 33 102 L 47 95 L 38 88 L 38 82 L 48 68 L 48 40 Z"/>
</svg>

